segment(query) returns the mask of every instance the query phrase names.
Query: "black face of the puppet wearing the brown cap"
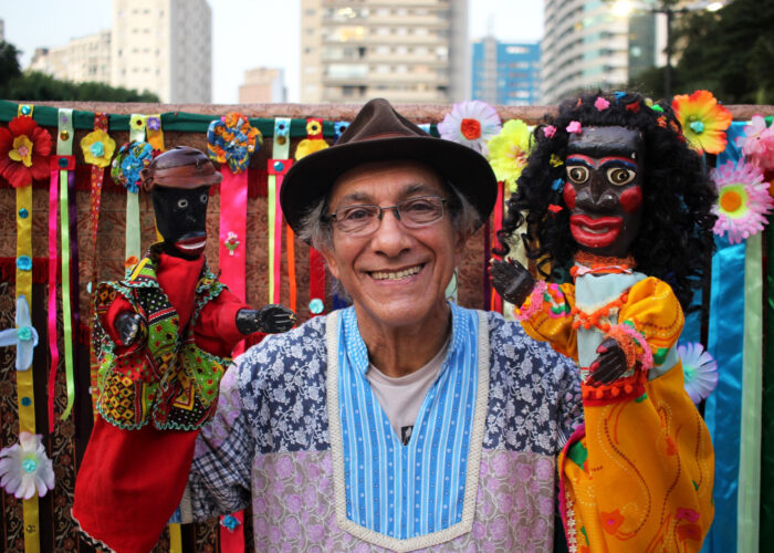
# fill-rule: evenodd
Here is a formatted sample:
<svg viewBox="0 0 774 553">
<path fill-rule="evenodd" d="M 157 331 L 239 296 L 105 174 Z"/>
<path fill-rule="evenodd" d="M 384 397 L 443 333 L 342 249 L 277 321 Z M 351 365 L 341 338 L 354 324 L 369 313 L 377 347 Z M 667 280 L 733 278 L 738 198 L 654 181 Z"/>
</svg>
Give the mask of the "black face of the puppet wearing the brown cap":
<svg viewBox="0 0 774 553">
<path fill-rule="evenodd" d="M 153 188 L 156 226 L 167 253 L 196 259 L 207 242 L 209 186 L 199 188 Z"/>
</svg>

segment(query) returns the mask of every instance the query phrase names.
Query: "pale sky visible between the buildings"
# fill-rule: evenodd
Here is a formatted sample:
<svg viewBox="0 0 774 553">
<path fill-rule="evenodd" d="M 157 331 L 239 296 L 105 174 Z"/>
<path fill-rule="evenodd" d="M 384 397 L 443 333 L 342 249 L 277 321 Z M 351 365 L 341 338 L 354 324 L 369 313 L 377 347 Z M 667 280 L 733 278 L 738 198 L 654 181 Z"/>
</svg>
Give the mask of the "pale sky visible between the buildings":
<svg viewBox="0 0 774 553">
<path fill-rule="evenodd" d="M 289 101 L 299 101 L 300 0 L 209 0 L 212 9 L 212 103 L 236 104 L 244 71 L 284 67 Z M 543 35 L 542 0 L 469 0 L 469 38 L 532 42 Z M 34 15 L 33 15 L 34 14 Z M 0 0 L 6 40 L 30 64 L 35 48 L 113 25 L 111 0 Z"/>
</svg>

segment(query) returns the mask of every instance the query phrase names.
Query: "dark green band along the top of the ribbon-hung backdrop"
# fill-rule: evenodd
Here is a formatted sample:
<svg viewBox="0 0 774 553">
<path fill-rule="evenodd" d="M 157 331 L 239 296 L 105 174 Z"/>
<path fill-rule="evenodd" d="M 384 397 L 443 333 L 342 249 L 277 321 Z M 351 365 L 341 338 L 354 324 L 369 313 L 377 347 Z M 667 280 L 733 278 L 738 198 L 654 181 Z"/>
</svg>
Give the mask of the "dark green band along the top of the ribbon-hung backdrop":
<svg viewBox="0 0 774 553">
<path fill-rule="evenodd" d="M 7 100 L 0 100 L 0 121 L 9 122 L 17 116 L 19 109 L 19 104 L 15 102 L 9 102 Z M 59 109 L 50 106 L 35 106 L 33 113 L 33 118 L 39 125 L 44 127 L 55 127 L 57 125 L 56 115 Z M 112 132 L 118 131 L 132 131 L 129 121 L 132 115 L 129 114 L 112 114 L 108 115 L 108 128 Z M 186 112 L 167 112 L 161 114 L 161 127 L 165 132 L 178 132 L 178 133 L 207 133 L 207 129 L 212 122 L 212 115 L 205 115 L 199 113 L 186 113 Z M 250 119 L 250 124 L 261 132 L 264 137 L 274 136 L 274 118 L 273 117 L 253 117 Z M 79 109 L 73 111 L 73 125 L 74 128 L 85 128 L 88 131 L 94 129 L 94 112 L 82 112 Z M 335 122 L 325 121 L 323 122 L 323 135 L 333 138 L 336 136 L 334 129 Z M 438 135 L 438 129 L 433 123 L 430 126 L 430 133 L 433 136 Z M 306 119 L 291 119 L 290 127 L 291 138 L 306 138 Z"/>
</svg>

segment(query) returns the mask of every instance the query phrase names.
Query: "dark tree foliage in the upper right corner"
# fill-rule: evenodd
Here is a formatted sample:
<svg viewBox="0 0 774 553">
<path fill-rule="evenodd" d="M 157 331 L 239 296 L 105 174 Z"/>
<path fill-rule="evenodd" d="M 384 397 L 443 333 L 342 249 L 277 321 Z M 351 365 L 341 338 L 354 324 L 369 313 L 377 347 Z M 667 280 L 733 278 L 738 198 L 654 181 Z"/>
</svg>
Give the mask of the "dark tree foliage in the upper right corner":
<svg viewBox="0 0 774 553">
<path fill-rule="evenodd" d="M 717 12 L 676 14 L 673 94 L 705 88 L 725 104 L 774 104 L 773 29 L 773 0 L 732 0 Z M 663 72 L 647 70 L 629 85 L 661 97 Z"/>
</svg>

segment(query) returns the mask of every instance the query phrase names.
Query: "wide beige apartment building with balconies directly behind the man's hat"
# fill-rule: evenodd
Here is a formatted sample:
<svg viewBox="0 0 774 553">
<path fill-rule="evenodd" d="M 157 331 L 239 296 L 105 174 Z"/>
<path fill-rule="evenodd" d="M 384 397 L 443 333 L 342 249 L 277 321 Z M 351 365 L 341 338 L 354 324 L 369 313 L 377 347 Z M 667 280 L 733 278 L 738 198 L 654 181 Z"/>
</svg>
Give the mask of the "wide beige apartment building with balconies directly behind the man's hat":
<svg viewBox="0 0 774 553">
<path fill-rule="evenodd" d="M 301 0 L 307 103 L 449 103 L 469 92 L 467 0 Z"/>
</svg>

